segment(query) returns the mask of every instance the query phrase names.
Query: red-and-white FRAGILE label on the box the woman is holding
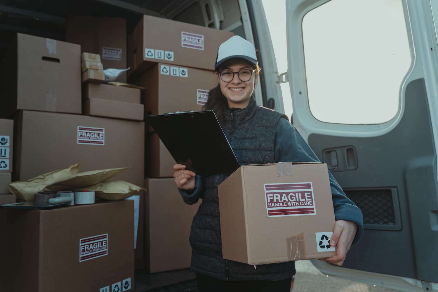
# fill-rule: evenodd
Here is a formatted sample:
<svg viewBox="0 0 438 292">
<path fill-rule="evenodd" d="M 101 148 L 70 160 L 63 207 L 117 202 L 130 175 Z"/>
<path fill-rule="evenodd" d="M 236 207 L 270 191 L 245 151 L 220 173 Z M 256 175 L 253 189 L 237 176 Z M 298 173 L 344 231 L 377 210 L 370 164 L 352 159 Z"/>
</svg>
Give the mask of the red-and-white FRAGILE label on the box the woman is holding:
<svg viewBox="0 0 438 292">
<path fill-rule="evenodd" d="M 315 215 L 312 183 L 265 183 L 268 217 Z"/>
</svg>

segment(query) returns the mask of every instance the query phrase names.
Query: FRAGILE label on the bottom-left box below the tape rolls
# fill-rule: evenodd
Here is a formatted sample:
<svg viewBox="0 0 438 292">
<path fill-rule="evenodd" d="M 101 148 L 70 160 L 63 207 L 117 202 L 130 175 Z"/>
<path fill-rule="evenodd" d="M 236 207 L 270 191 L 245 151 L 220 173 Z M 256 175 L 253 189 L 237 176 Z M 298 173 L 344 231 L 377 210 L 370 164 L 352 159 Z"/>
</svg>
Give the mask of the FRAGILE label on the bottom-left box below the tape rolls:
<svg viewBox="0 0 438 292">
<path fill-rule="evenodd" d="M 108 233 L 79 240 L 79 261 L 91 260 L 108 254 Z"/>
</svg>

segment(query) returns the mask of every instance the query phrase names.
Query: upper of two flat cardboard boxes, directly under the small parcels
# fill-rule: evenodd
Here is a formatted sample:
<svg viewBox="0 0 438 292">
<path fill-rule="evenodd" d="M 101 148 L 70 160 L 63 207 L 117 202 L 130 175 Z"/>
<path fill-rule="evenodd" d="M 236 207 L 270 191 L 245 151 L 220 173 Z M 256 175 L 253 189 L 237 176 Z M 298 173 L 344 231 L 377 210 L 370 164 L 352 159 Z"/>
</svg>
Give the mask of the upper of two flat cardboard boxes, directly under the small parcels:
<svg viewBox="0 0 438 292">
<path fill-rule="evenodd" d="M 83 98 L 108 99 L 140 104 L 140 89 L 111 84 L 85 84 Z"/>
</svg>

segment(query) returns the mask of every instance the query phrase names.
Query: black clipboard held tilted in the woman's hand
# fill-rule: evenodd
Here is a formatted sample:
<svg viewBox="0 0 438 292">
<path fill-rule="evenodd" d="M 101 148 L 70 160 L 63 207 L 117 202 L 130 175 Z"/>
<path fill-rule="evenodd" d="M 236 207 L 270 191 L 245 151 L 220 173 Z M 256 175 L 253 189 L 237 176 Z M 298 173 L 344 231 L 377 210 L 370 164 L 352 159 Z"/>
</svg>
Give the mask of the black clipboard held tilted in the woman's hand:
<svg viewBox="0 0 438 292">
<path fill-rule="evenodd" d="M 145 116 L 178 164 L 201 176 L 230 175 L 239 162 L 212 110 Z"/>
</svg>

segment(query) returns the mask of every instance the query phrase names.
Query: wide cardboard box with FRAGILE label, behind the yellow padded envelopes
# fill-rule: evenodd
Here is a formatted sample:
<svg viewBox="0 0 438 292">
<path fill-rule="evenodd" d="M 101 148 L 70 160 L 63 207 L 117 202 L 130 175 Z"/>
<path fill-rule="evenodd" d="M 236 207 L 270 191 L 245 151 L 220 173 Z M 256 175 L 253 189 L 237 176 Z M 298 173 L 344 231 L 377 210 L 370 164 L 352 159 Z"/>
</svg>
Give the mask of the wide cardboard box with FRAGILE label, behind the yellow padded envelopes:
<svg viewBox="0 0 438 292">
<path fill-rule="evenodd" d="M 144 183 L 143 122 L 22 111 L 15 116 L 15 123 L 14 181 L 31 179 L 79 162 L 81 172 L 130 166 L 113 179 L 137 186 Z M 84 139 L 92 130 L 98 137 L 94 141 Z M 142 244 L 142 204 L 139 212 L 137 242 Z M 135 256 L 136 268 L 142 268 L 143 249 L 137 248 Z"/>
</svg>

